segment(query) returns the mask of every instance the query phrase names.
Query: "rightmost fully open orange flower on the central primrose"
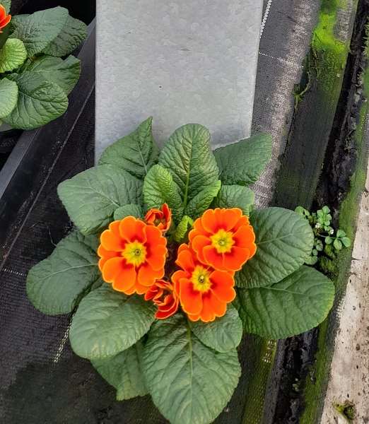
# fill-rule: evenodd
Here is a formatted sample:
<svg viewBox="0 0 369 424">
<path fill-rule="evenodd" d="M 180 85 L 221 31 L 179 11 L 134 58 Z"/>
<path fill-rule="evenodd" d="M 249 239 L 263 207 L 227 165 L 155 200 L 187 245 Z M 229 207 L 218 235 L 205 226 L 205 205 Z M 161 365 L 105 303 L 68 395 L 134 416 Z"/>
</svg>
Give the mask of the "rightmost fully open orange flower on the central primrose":
<svg viewBox="0 0 369 424">
<path fill-rule="evenodd" d="M 239 271 L 257 249 L 254 229 L 239 208 L 205 211 L 195 220 L 189 242 L 201 262 L 219 271 Z"/>
</svg>

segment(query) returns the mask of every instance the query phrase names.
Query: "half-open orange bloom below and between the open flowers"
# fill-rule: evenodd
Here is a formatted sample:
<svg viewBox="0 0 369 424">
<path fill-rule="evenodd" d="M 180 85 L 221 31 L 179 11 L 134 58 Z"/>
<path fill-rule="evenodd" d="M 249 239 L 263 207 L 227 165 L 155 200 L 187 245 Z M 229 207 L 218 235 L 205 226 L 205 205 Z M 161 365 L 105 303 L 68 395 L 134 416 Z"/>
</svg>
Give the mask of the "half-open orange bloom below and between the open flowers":
<svg viewBox="0 0 369 424">
<path fill-rule="evenodd" d="M 177 296 L 172 284 L 169 281 L 158 280 L 148 292 L 145 293 L 145 300 L 152 300 L 158 307 L 155 317 L 165 319 L 171 317 L 178 310 L 180 299 Z"/>
</svg>

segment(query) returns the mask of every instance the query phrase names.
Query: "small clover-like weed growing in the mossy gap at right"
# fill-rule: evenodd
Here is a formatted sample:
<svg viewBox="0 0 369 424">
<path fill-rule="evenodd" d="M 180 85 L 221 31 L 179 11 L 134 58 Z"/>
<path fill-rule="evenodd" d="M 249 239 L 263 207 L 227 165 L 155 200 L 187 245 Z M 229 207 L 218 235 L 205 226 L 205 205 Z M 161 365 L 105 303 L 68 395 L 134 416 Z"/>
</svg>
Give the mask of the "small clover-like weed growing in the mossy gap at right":
<svg viewBox="0 0 369 424">
<path fill-rule="evenodd" d="M 305 264 L 315 265 L 320 260 L 321 264 L 327 266 L 327 259 L 334 259 L 337 251 L 351 246 L 351 240 L 346 232 L 341 229 L 335 232 L 332 227 L 332 215 L 328 206 L 323 206 L 322 209 L 312 213 L 303 206 L 298 206 L 295 212 L 309 221 L 314 232 L 314 248 Z"/>
</svg>

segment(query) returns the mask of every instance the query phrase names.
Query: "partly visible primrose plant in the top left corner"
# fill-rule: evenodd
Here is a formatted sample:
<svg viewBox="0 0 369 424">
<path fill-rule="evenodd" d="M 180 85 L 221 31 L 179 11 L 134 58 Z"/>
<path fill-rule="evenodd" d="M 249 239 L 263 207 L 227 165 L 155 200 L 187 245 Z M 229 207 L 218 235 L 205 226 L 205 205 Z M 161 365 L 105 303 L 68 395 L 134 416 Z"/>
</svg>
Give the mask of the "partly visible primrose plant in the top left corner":
<svg viewBox="0 0 369 424">
<path fill-rule="evenodd" d="M 0 123 L 34 129 L 68 107 L 81 74 L 71 52 L 86 38 L 86 24 L 63 7 L 11 16 L 10 6 L 0 0 Z"/>
</svg>

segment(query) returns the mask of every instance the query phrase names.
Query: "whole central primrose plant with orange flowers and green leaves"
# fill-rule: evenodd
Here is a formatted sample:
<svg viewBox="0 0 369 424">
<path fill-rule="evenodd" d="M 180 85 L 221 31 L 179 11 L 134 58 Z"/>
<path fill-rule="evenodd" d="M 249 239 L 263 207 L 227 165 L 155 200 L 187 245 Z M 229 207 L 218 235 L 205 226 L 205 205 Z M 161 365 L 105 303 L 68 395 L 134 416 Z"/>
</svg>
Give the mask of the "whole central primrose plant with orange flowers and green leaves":
<svg viewBox="0 0 369 424">
<path fill-rule="evenodd" d="M 30 270 L 28 297 L 76 310 L 71 347 L 117 399 L 151 394 L 171 423 L 211 423 L 238 385 L 243 331 L 286 338 L 327 316 L 334 285 L 304 265 L 308 221 L 253 206 L 270 157 L 266 134 L 212 152 L 199 124 L 159 151 L 150 118 L 59 185 L 76 230 Z"/>
</svg>

